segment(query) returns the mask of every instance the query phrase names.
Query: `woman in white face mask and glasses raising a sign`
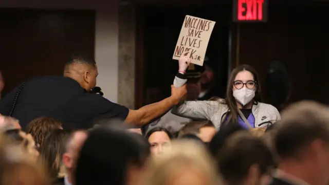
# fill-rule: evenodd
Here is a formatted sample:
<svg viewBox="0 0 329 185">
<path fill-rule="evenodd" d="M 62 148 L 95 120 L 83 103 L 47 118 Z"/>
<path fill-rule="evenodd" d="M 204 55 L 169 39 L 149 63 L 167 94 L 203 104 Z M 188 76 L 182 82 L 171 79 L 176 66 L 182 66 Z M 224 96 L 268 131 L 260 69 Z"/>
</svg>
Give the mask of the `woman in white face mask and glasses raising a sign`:
<svg viewBox="0 0 329 185">
<path fill-rule="evenodd" d="M 184 53 L 178 63 L 174 85 L 186 83 L 185 70 L 191 59 Z M 211 120 L 217 130 L 227 124 L 239 123 L 246 129 L 267 127 L 280 120 L 278 109 L 261 103 L 260 83 L 256 71 L 249 65 L 237 66 L 231 72 L 225 99 L 185 101 L 175 106 L 172 113 L 192 119 Z"/>
</svg>

